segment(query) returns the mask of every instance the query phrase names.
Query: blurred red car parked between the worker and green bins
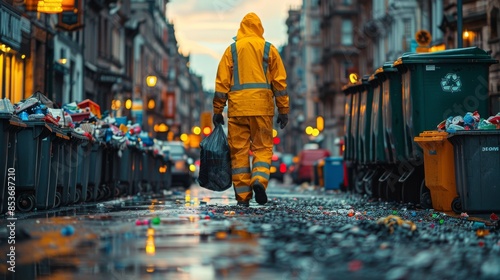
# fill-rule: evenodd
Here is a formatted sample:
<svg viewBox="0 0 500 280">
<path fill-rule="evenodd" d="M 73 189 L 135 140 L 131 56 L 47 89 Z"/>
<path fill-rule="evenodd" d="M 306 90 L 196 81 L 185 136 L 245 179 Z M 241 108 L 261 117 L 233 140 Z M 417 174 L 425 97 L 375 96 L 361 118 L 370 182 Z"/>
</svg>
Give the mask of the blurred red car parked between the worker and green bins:
<svg viewBox="0 0 500 280">
<path fill-rule="evenodd" d="M 326 149 L 305 149 L 300 151 L 292 178 L 295 184 L 312 182 L 314 176 L 314 164 L 330 156 L 330 151 Z"/>
</svg>

